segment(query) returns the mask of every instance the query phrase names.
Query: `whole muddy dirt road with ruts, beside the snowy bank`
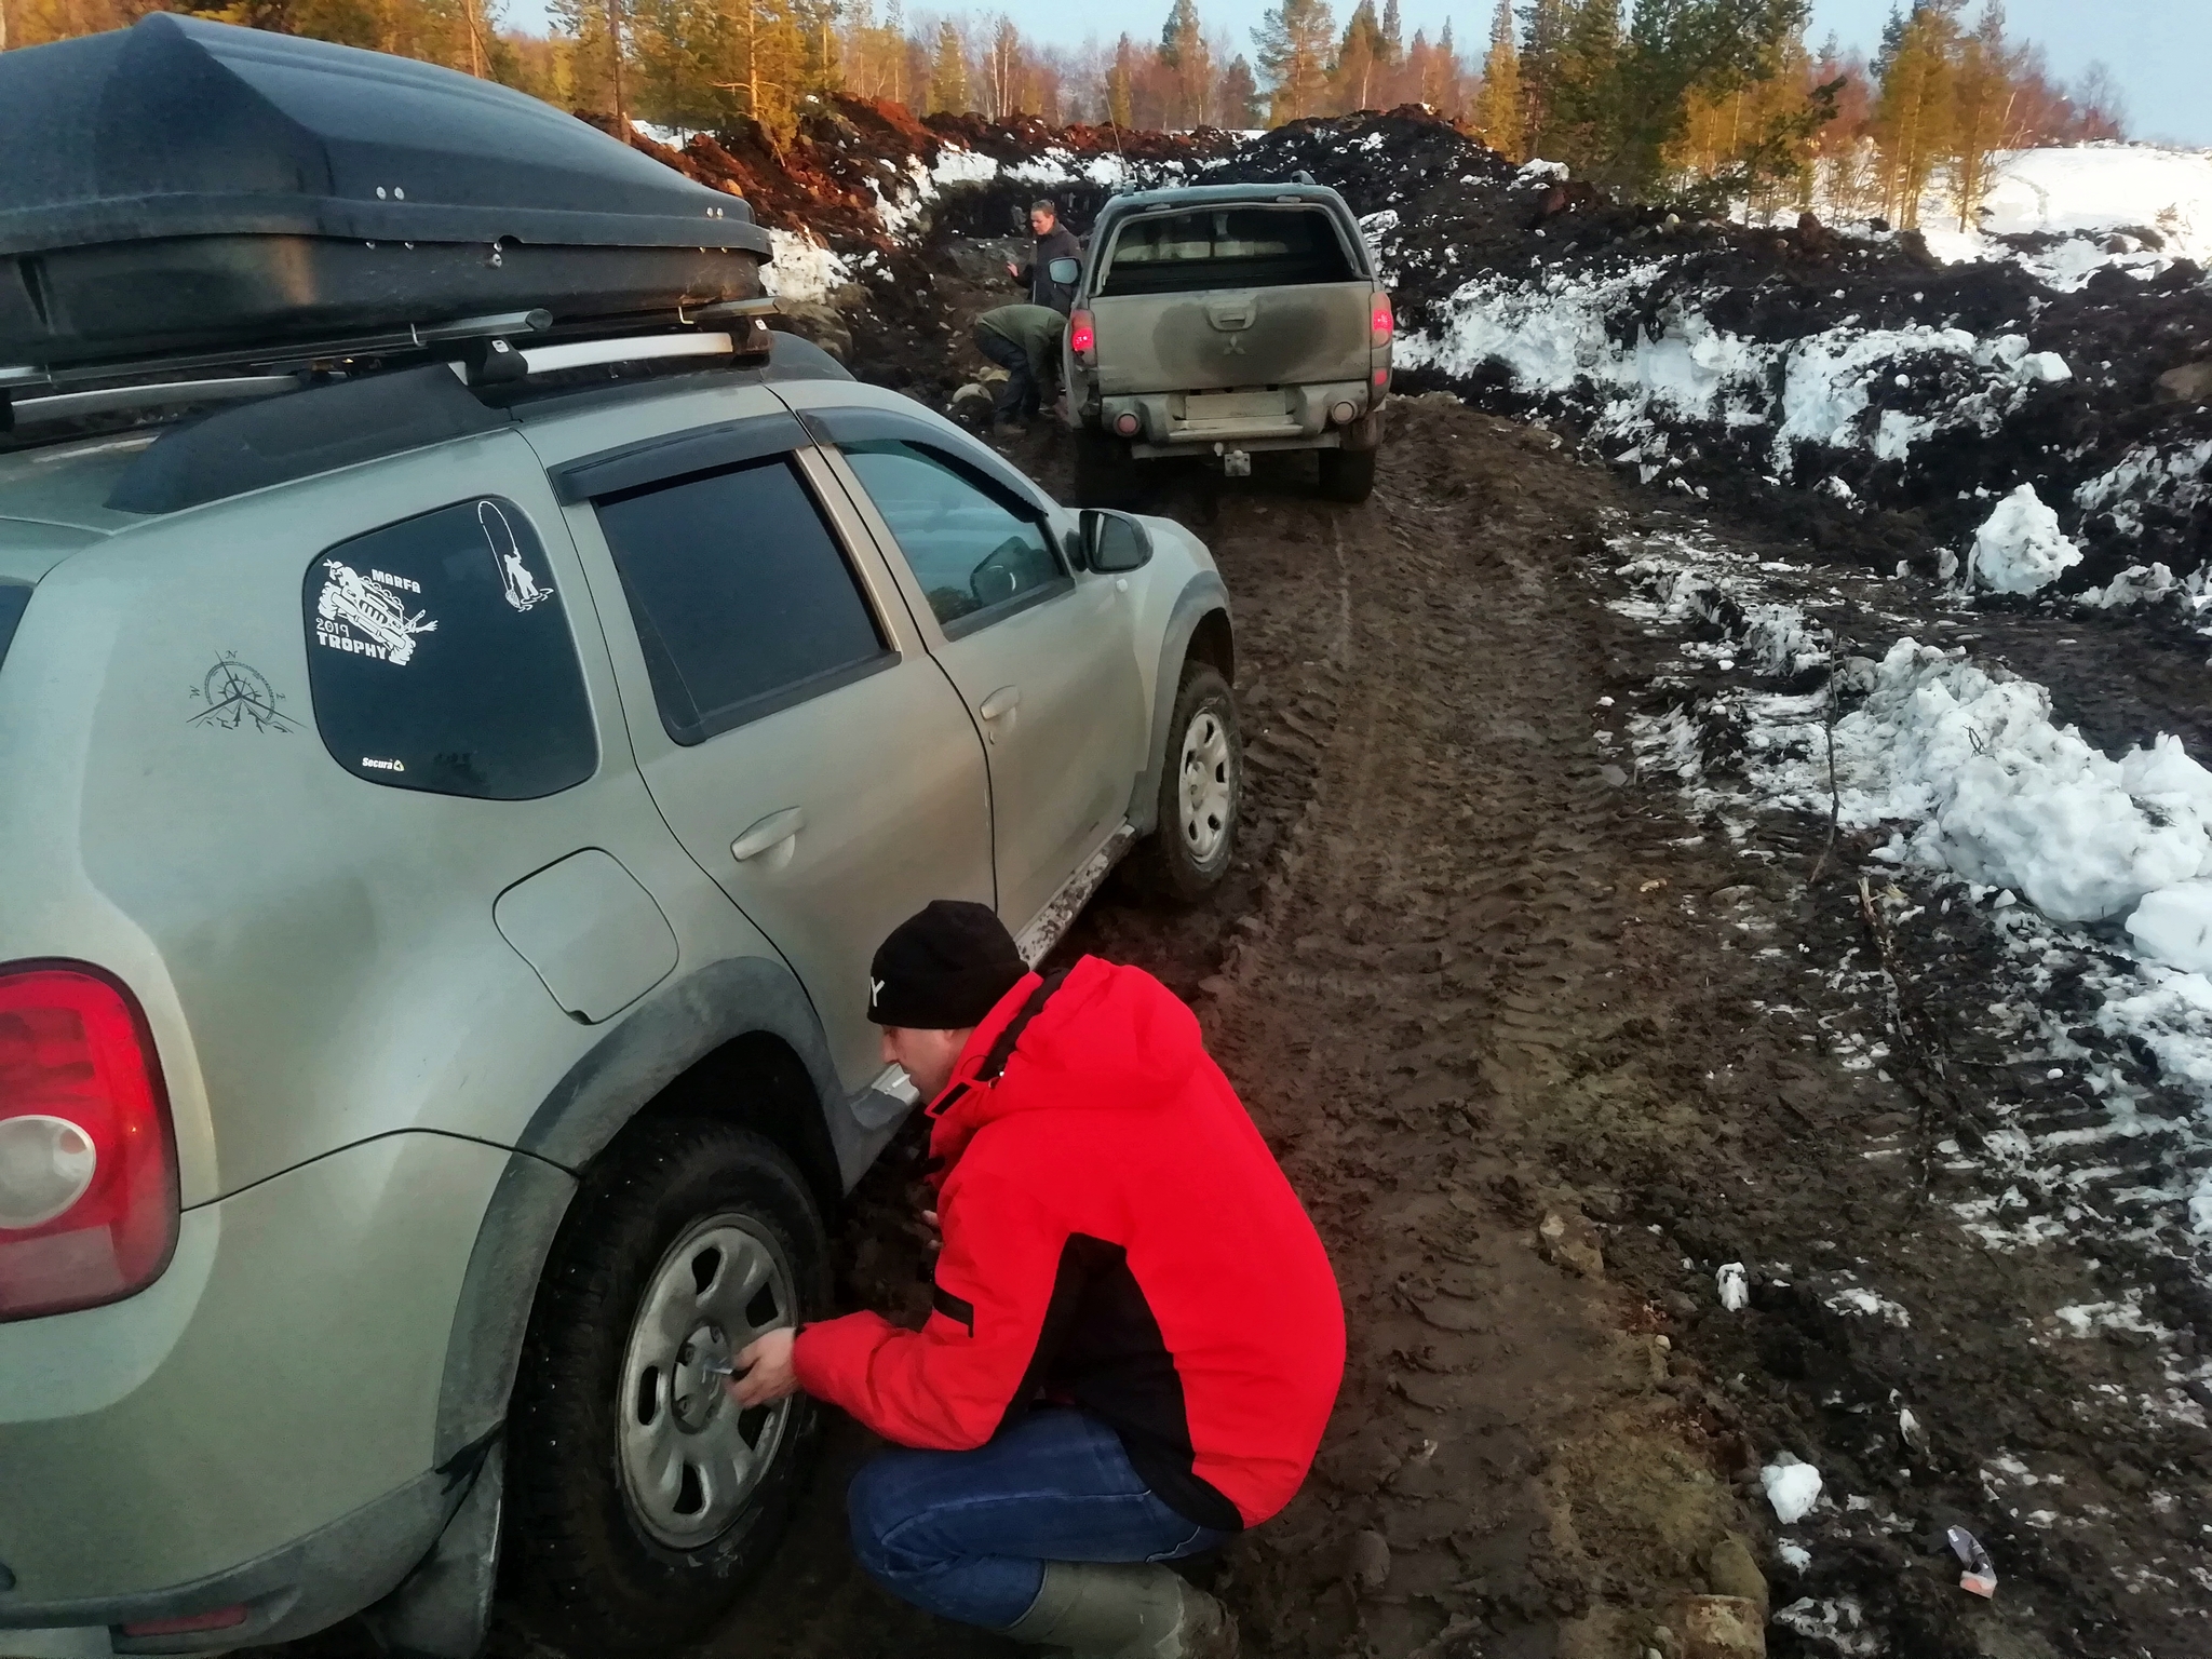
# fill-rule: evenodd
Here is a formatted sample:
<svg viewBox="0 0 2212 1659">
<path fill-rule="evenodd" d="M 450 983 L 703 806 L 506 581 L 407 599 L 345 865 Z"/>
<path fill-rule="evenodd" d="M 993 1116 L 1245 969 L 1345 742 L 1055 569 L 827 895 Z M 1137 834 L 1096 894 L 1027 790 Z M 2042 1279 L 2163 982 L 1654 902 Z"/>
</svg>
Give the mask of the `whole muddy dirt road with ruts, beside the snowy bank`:
<svg viewBox="0 0 2212 1659">
<path fill-rule="evenodd" d="M 1051 436 L 1018 460 L 1064 489 Z M 1652 679 L 1686 633 L 1615 575 L 1657 498 L 1447 398 L 1400 405 L 1367 507 L 1265 469 L 1201 482 L 1152 507 L 1199 524 L 1239 606 L 1239 867 L 1186 916 L 1108 885 L 1066 949 L 1197 1004 L 1343 1281 L 1352 1363 L 1314 1480 L 1194 1568 L 1248 1652 L 1759 1652 L 1759 1617 L 1745 1644 L 1686 1644 L 1688 1595 L 1770 1601 L 1774 1655 L 2212 1650 L 2212 1436 L 2154 1409 L 2179 1398 L 2168 1338 L 2070 1340 L 2053 1316 L 2115 1294 L 2126 1230 L 2101 1259 L 1997 1250 L 1944 1203 L 1971 1179 L 1938 1150 L 1953 1084 L 2006 1060 L 1975 1048 L 1978 998 L 2004 991 L 1989 927 L 1896 920 L 1882 980 L 1858 880 L 1885 927 L 1905 894 L 1867 847 L 1809 816 L 1723 834 L 1637 774 L 1626 723 L 1679 695 Z M 1953 1084 L 1893 1055 L 1900 982 Z M 920 1314 L 911 1172 L 894 1148 L 852 1206 L 847 1305 Z M 867 1451 L 832 1429 L 701 1652 L 1013 1652 L 852 1566 L 843 1482 Z M 1823 1498 L 1783 1528 L 1761 1469 L 1790 1458 Z M 1993 1601 L 1960 1590 L 1949 1524 L 1995 1557 Z M 502 1621 L 493 1652 L 538 1644 Z"/>
</svg>

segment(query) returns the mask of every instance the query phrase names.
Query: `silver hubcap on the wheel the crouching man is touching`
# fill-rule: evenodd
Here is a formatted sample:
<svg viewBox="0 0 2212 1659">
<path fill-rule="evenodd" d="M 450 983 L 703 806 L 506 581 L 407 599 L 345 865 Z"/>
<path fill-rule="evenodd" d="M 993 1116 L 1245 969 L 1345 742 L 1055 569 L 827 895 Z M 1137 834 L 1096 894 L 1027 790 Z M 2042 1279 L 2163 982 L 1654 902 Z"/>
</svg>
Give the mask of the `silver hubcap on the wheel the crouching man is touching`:
<svg viewBox="0 0 2212 1659">
<path fill-rule="evenodd" d="M 622 1363 L 622 1489 L 675 1548 L 723 1533 L 774 1462 L 792 1402 L 739 1411 L 717 1367 L 794 1318 L 783 1252 L 737 1214 L 695 1223 L 661 1256 Z"/>
</svg>

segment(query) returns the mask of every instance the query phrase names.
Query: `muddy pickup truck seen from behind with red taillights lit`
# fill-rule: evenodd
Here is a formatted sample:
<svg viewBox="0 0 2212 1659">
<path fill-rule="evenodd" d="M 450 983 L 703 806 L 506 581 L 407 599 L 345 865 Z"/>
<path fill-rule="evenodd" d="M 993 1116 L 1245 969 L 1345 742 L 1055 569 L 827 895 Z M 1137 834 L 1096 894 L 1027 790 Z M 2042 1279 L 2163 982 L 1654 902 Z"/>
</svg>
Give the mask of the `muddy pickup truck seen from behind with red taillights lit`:
<svg viewBox="0 0 2212 1659">
<path fill-rule="evenodd" d="M 1075 283 L 1064 352 L 1075 491 L 1119 504 L 1135 462 L 1208 456 L 1237 478 L 1261 449 L 1312 449 L 1321 493 L 1367 500 L 1396 332 L 1345 199 L 1294 184 L 1113 197 Z"/>
</svg>

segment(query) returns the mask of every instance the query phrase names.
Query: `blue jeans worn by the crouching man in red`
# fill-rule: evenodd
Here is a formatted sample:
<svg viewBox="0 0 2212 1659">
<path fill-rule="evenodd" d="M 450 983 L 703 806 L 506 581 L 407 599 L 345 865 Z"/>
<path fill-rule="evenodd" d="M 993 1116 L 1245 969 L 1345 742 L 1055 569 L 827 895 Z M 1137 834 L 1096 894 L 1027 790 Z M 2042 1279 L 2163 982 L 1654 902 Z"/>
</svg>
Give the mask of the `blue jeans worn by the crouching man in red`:
<svg viewBox="0 0 2212 1659">
<path fill-rule="evenodd" d="M 1004 1630 L 1046 1562 L 1172 1562 L 1223 1533 L 1168 1509 L 1097 1418 L 1031 1411 L 975 1451 L 887 1451 L 852 1480 L 852 1553 L 891 1595 Z"/>
</svg>

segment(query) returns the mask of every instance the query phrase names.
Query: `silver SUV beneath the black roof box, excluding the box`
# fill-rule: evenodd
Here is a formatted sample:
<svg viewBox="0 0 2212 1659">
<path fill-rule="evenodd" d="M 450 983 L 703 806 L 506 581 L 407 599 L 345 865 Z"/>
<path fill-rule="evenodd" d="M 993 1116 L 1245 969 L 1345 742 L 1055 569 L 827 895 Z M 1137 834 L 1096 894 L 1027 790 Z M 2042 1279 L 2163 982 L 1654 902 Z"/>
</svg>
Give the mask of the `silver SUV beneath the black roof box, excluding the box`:
<svg viewBox="0 0 2212 1659">
<path fill-rule="evenodd" d="M 0 456 L 0 1652 L 469 1655 L 502 1546 L 692 1635 L 814 1433 L 717 1380 L 914 1104 L 872 949 L 1230 860 L 1197 540 L 781 336 L 593 349 Z"/>
</svg>

